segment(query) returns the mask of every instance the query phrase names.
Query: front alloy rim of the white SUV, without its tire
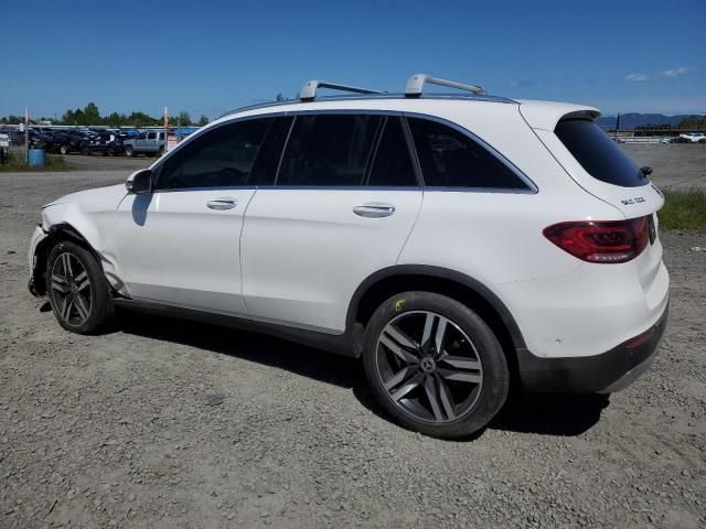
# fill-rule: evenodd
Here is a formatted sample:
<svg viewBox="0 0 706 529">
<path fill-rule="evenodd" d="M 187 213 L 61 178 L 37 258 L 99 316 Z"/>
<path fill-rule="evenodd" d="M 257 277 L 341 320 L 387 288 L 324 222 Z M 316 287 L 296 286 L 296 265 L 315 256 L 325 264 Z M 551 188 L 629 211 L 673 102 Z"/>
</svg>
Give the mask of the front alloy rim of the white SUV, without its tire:
<svg viewBox="0 0 706 529">
<path fill-rule="evenodd" d="M 86 323 L 93 301 L 90 280 L 76 256 L 64 251 L 54 259 L 51 285 L 55 309 L 62 320 L 72 326 Z"/>
</svg>

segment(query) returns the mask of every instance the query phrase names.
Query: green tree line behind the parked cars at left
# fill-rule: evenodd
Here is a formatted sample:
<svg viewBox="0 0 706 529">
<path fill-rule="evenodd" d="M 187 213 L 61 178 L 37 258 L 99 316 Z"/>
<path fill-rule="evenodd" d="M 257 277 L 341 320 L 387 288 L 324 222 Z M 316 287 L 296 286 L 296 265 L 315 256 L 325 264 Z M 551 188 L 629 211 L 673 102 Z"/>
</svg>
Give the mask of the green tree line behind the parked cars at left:
<svg viewBox="0 0 706 529">
<path fill-rule="evenodd" d="M 51 118 L 31 118 L 31 122 L 38 121 L 51 121 L 53 125 L 68 125 L 74 127 L 95 127 L 95 126 L 108 126 L 108 127 L 150 127 L 164 123 L 164 118 L 153 118 L 142 111 L 133 111 L 131 114 L 118 114 L 113 112 L 107 116 L 101 116 L 98 110 L 98 106 L 95 102 L 89 102 L 84 108 L 76 108 L 75 110 L 68 109 L 64 112 L 58 121 Z M 4 116 L 0 118 L 1 123 L 22 123 L 24 122 L 23 116 Z M 197 126 L 203 127 L 208 123 L 207 116 L 201 116 L 199 120 L 193 121 L 189 112 L 179 112 L 175 116 L 169 117 L 169 125 L 171 126 Z"/>
</svg>

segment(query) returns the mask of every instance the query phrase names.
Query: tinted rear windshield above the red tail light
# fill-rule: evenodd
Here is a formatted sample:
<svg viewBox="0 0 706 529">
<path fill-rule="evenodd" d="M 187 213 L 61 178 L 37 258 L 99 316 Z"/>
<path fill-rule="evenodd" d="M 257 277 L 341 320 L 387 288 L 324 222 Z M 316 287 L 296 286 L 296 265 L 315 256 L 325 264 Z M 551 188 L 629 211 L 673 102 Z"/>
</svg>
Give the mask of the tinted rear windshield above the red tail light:
<svg viewBox="0 0 706 529">
<path fill-rule="evenodd" d="M 623 187 L 648 183 L 640 168 L 593 121 L 567 119 L 554 132 L 595 179 Z"/>
</svg>

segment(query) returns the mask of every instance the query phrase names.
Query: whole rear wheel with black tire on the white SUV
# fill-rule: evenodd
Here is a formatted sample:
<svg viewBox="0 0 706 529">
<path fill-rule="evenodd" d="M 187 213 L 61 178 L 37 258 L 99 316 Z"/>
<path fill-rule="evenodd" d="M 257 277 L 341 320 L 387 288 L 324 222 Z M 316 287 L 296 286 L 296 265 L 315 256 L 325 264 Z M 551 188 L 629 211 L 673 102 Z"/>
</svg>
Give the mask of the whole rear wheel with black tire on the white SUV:
<svg viewBox="0 0 706 529">
<path fill-rule="evenodd" d="M 424 339 L 427 327 L 432 339 Z M 366 327 L 363 367 L 382 408 L 400 425 L 434 438 L 481 430 L 510 389 L 505 355 L 485 322 L 431 292 L 404 292 L 379 305 Z"/>
</svg>

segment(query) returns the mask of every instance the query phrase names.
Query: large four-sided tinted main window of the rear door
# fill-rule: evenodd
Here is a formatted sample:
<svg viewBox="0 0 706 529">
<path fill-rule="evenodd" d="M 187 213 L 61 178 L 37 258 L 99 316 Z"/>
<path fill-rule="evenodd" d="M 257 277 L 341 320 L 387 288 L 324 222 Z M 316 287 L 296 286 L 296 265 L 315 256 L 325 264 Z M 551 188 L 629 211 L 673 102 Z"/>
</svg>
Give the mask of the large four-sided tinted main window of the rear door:
<svg viewBox="0 0 706 529">
<path fill-rule="evenodd" d="M 277 185 L 363 185 L 381 120 L 373 115 L 298 116 Z"/>
</svg>

